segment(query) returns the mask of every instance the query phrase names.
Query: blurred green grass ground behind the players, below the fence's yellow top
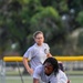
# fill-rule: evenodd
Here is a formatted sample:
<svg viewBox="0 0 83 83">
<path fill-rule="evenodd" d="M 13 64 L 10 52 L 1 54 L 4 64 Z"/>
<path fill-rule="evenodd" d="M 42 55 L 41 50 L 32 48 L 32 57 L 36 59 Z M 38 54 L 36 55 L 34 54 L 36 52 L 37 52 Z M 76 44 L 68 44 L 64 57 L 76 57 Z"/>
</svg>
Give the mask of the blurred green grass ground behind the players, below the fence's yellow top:
<svg viewBox="0 0 83 83">
<path fill-rule="evenodd" d="M 68 71 L 65 72 L 71 80 L 71 83 L 83 83 L 83 71 Z M 74 74 L 74 75 L 73 75 Z M 30 75 L 22 75 L 21 80 L 19 72 L 9 71 L 6 73 L 6 80 L 0 81 L 0 83 L 32 83 L 32 77 Z"/>
</svg>

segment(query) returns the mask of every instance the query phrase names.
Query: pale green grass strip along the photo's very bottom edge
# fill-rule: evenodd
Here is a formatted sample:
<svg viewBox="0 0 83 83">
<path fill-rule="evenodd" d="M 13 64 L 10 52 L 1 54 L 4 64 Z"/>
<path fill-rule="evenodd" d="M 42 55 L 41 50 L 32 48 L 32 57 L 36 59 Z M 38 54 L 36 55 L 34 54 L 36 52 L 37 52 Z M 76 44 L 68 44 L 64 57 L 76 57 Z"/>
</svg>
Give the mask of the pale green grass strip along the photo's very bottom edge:
<svg viewBox="0 0 83 83">
<path fill-rule="evenodd" d="M 71 80 L 71 83 L 83 83 L 82 75 L 70 75 L 69 79 Z M 20 76 L 7 76 L 4 83 L 22 83 L 22 81 Z M 32 77 L 23 76 L 23 83 L 32 83 Z"/>
</svg>

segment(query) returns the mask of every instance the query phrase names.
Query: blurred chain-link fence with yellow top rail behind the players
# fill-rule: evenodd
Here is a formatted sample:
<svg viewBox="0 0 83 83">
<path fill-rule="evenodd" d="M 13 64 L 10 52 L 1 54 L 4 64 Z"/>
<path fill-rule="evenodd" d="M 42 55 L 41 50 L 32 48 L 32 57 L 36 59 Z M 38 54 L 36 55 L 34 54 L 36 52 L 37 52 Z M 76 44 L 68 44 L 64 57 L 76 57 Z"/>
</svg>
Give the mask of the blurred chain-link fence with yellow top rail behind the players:
<svg viewBox="0 0 83 83">
<path fill-rule="evenodd" d="M 83 56 L 55 56 L 62 61 L 71 83 L 83 83 Z M 3 64 L 6 62 L 6 65 Z M 24 72 L 22 56 L 6 56 L 1 61 L 6 70 L 0 83 L 32 83 L 32 77 Z M 77 75 L 77 76 L 76 76 Z M 4 79 L 6 76 L 6 79 Z"/>
</svg>

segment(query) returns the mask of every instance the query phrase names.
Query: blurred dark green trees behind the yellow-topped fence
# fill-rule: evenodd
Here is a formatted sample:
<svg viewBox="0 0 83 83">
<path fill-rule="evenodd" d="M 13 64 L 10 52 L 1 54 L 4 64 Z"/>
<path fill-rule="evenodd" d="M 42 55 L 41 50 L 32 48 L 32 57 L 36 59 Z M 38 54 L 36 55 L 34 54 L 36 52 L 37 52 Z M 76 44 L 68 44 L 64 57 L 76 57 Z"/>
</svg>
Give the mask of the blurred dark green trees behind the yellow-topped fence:
<svg viewBox="0 0 83 83">
<path fill-rule="evenodd" d="M 38 30 L 43 31 L 54 56 L 83 55 L 83 0 L 0 0 L 0 60 L 22 56 Z M 79 70 L 82 63 L 76 63 Z"/>
</svg>

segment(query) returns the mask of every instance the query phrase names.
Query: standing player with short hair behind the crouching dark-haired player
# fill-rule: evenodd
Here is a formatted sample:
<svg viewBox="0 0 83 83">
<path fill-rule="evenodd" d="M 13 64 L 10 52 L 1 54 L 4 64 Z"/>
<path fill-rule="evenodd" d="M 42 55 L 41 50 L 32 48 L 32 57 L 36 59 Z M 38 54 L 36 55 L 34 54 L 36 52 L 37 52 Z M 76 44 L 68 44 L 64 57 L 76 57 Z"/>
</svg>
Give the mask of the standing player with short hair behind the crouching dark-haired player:
<svg viewBox="0 0 83 83">
<path fill-rule="evenodd" d="M 46 58 L 52 56 L 49 45 L 44 43 L 44 35 L 42 31 L 34 32 L 33 39 L 35 43 L 30 46 L 23 55 L 23 64 L 31 75 L 38 65 L 42 64 Z"/>
</svg>

